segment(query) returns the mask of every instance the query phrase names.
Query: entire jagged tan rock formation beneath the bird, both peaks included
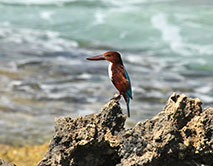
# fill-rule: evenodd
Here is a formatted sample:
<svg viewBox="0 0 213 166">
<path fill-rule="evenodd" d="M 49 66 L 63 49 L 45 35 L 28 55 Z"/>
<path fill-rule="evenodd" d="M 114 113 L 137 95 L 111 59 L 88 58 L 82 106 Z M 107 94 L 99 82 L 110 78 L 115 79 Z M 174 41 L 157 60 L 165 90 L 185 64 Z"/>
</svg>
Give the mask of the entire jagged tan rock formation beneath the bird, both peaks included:
<svg viewBox="0 0 213 166">
<path fill-rule="evenodd" d="M 213 108 L 172 94 L 164 110 L 133 128 L 112 99 L 97 114 L 59 118 L 38 166 L 212 166 Z"/>
</svg>

